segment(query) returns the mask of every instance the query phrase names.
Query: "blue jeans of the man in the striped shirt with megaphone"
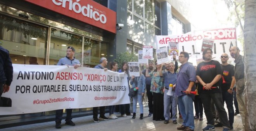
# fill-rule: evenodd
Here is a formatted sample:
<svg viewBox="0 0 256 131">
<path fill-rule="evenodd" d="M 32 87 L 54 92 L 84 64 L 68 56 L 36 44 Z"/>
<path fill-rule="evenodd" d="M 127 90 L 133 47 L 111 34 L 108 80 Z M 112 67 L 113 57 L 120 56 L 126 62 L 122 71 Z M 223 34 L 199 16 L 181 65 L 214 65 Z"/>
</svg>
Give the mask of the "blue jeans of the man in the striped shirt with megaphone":
<svg viewBox="0 0 256 131">
<path fill-rule="evenodd" d="M 171 106 L 171 113 L 172 113 L 172 120 L 176 120 L 177 114 L 177 96 L 169 96 L 167 95 L 168 90 L 165 89 L 164 91 L 164 118 L 165 120 L 170 120 L 170 106 Z"/>
</svg>

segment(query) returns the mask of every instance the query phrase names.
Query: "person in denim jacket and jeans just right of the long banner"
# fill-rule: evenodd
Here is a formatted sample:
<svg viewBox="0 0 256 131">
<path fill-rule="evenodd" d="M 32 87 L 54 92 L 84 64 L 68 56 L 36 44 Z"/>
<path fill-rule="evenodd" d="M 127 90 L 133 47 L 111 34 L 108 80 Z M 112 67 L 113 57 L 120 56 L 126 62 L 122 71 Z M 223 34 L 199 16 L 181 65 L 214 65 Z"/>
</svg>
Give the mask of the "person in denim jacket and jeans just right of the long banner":
<svg viewBox="0 0 256 131">
<path fill-rule="evenodd" d="M 145 76 L 141 73 L 141 71 L 140 71 L 140 76 L 139 77 L 131 76 L 130 84 L 132 85 L 132 87 L 135 87 L 135 89 L 137 90 L 137 95 L 133 97 L 133 116 L 132 116 L 132 119 L 135 119 L 135 117 L 136 117 L 137 101 L 138 101 L 139 106 L 140 106 L 140 119 L 143 119 L 142 99 L 143 99 L 143 96 L 145 94 L 146 83 L 145 83 Z"/>
</svg>

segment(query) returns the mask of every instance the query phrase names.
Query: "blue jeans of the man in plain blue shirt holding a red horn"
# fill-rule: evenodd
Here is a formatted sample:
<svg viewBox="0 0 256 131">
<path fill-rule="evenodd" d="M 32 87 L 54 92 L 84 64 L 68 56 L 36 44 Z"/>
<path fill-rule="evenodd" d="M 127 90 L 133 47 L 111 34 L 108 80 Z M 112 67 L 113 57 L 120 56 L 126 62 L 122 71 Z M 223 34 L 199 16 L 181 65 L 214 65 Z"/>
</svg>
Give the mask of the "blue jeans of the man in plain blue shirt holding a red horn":
<svg viewBox="0 0 256 131">
<path fill-rule="evenodd" d="M 178 103 L 180 106 L 180 113 L 182 115 L 182 125 L 188 126 L 190 129 L 195 129 L 194 123 L 194 107 L 193 100 L 188 95 L 179 96 Z"/>
</svg>

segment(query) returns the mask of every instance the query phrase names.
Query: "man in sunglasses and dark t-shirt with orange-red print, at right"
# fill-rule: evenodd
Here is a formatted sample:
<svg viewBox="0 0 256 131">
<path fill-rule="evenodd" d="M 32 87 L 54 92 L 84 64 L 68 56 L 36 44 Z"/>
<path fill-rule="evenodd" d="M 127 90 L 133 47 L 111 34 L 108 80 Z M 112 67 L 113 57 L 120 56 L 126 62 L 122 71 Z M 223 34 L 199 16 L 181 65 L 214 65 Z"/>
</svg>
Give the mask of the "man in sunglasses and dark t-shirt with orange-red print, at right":
<svg viewBox="0 0 256 131">
<path fill-rule="evenodd" d="M 222 99 L 223 102 L 226 102 L 228 108 L 228 120 L 230 124 L 230 129 L 233 129 L 234 123 L 234 107 L 233 107 L 233 98 L 234 92 L 233 87 L 235 85 L 235 72 L 234 66 L 228 64 L 228 54 L 223 53 L 221 56 L 221 67 L 222 67 Z M 222 127 L 221 123 L 214 125 L 215 127 Z"/>
</svg>

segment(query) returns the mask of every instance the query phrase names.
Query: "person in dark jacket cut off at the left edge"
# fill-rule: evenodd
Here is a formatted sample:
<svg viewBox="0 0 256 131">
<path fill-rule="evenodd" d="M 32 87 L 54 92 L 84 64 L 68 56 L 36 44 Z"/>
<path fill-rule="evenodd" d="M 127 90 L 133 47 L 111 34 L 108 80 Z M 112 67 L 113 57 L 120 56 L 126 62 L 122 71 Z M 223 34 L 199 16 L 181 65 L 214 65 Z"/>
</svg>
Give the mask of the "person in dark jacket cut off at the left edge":
<svg viewBox="0 0 256 131">
<path fill-rule="evenodd" d="M 9 51 L 0 46 L 0 97 L 3 93 L 8 92 L 12 82 L 12 60 Z M 0 101 L 0 106 L 2 102 Z"/>
</svg>

